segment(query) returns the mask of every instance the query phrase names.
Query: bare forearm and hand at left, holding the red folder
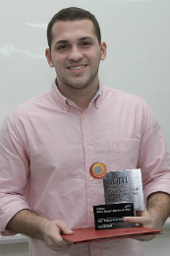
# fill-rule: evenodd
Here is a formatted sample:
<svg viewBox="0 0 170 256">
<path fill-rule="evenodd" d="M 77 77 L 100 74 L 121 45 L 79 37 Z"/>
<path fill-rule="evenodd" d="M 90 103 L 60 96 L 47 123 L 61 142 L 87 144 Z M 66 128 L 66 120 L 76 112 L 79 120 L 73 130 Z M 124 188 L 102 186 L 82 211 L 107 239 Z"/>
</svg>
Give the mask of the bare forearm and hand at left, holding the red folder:
<svg viewBox="0 0 170 256">
<path fill-rule="evenodd" d="M 7 228 L 16 233 L 23 233 L 29 237 L 43 240 L 53 251 L 61 251 L 72 245 L 61 236 L 61 233 L 73 233 L 67 224 L 62 221 L 49 221 L 27 209 L 18 212 L 9 221 Z"/>
</svg>

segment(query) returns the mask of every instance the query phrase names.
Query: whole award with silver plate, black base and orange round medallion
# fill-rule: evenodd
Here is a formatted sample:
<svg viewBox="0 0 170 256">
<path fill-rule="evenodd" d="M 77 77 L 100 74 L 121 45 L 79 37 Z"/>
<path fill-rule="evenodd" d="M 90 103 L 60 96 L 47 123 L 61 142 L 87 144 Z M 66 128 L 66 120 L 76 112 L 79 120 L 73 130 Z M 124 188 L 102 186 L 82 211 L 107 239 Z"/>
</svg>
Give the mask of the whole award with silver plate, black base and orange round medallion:
<svg viewBox="0 0 170 256">
<path fill-rule="evenodd" d="M 135 210 L 144 210 L 141 169 L 107 171 L 101 162 L 94 162 L 89 173 L 103 179 L 105 205 L 93 206 L 95 230 L 135 227 L 125 223 L 124 217 L 135 216 Z"/>
</svg>

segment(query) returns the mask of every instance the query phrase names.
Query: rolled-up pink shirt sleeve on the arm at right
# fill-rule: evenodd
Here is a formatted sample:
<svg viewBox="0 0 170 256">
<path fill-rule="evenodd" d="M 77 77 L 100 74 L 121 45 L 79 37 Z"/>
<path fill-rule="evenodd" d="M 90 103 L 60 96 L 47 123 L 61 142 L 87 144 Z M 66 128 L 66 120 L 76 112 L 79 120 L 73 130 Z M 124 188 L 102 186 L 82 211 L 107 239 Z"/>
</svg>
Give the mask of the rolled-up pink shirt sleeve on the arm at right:
<svg viewBox="0 0 170 256">
<path fill-rule="evenodd" d="M 139 153 L 144 199 L 154 192 L 170 194 L 170 154 L 162 128 L 146 106 L 145 130 Z"/>
</svg>

